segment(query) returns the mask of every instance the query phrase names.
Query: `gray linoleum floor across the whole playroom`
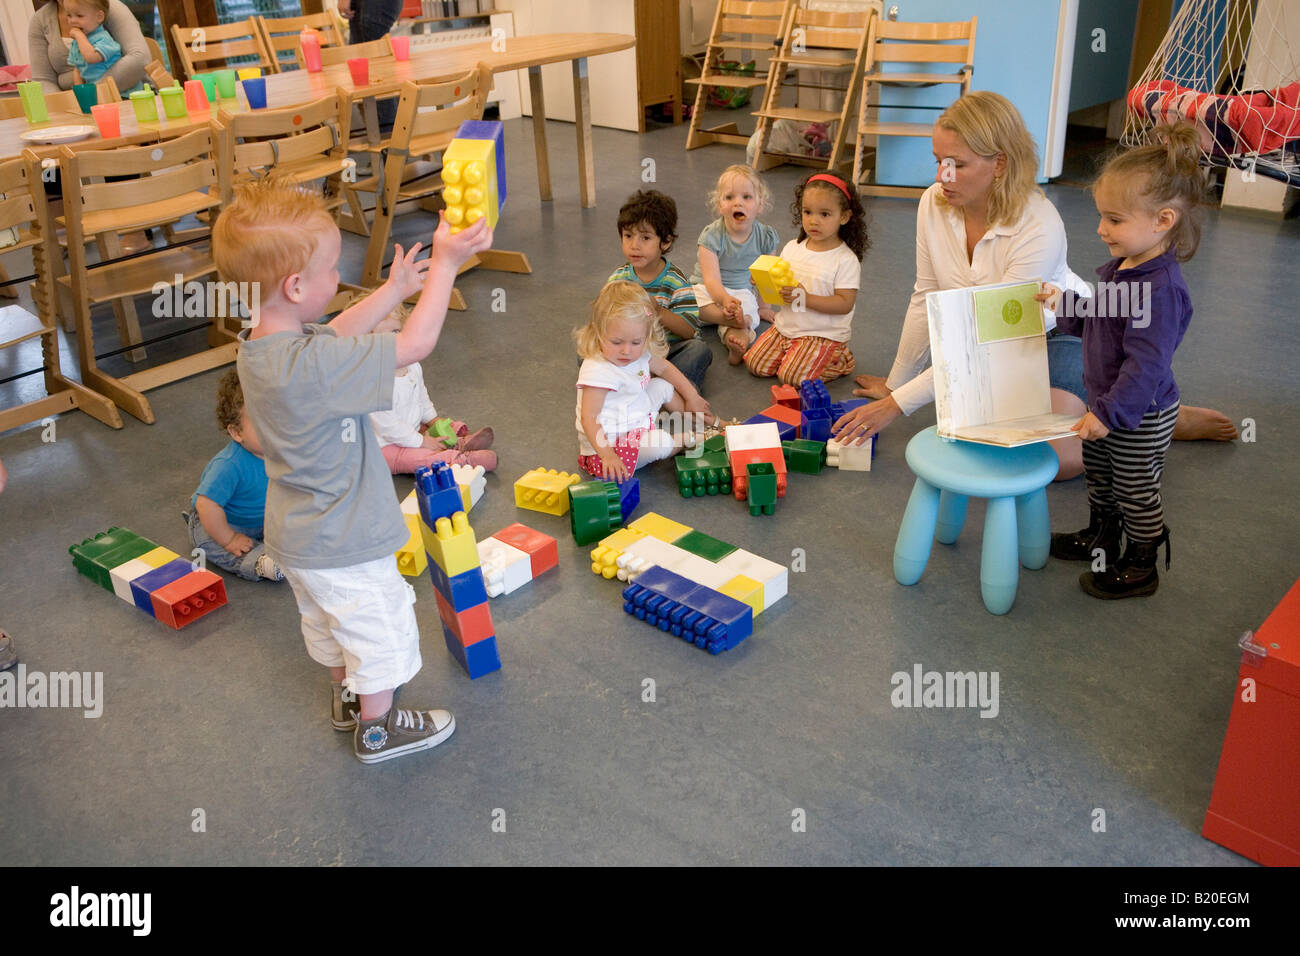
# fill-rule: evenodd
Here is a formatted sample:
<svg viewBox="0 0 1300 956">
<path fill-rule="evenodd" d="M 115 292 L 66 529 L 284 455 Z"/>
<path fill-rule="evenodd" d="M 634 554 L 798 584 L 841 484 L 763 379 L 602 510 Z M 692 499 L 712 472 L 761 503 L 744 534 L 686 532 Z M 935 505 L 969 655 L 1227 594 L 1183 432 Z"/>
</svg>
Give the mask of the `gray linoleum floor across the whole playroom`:
<svg viewBox="0 0 1300 956">
<path fill-rule="evenodd" d="M 230 606 L 173 632 L 72 566 L 68 546 L 122 525 L 176 550 L 179 510 L 222 445 L 218 372 L 150 393 L 157 424 L 114 432 L 79 414 L 0 437 L 0 623 L 39 671 L 101 671 L 99 719 L 0 713 L 0 862 L 6 864 L 1190 864 L 1242 857 L 1200 836 L 1227 723 L 1236 637 L 1300 568 L 1294 503 L 1300 395 L 1300 224 L 1212 212 L 1187 267 L 1196 306 L 1176 359 L 1184 401 L 1253 419 L 1253 444 L 1175 444 L 1165 480 L 1173 570 L 1150 600 L 1084 596 L 1079 567 L 1022 571 L 1006 617 L 979 597 L 983 506 L 924 579 L 894 583 L 911 475 L 900 420 L 871 473 L 796 475 L 774 518 L 733 499 L 684 501 L 668 466 L 641 476 L 659 511 L 768 558 L 806 553 L 790 594 L 737 649 L 708 657 L 625 617 L 567 522 L 516 511 L 534 466 L 573 470 L 569 329 L 620 264 L 615 216 L 646 185 L 681 213 L 693 264 L 705 195 L 732 147 L 684 152 L 685 127 L 595 130 L 598 204 L 578 206 L 572 126 L 550 125 L 555 200 L 540 203 L 526 121 L 507 124 L 511 198 L 500 248 L 533 274 L 476 272 L 425 363 L 439 410 L 497 429 L 502 464 L 472 519 L 523 520 L 560 541 L 560 567 L 493 602 L 502 671 L 471 682 L 443 648 L 429 580 L 416 581 L 425 666 L 408 704 L 442 705 L 456 735 L 365 767 L 328 723 L 328 675 L 303 650 L 287 585 L 228 579 Z M 801 170 L 768 176 L 764 221 L 793 235 Z M 1049 186 L 1070 261 L 1105 250 L 1086 191 Z M 853 349 L 885 372 L 914 274 L 915 204 L 872 200 Z M 400 222 L 398 239 L 432 219 Z M 344 237 L 343 274 L 363 242 Z M 494 290 L 506 311 L 490 311 Z M 109 347 L 112 319 L 101 321 Z M 715 362 L 706 394 L 727 416 L 768 403 L 768 381 Z M 164 355 L 165 346 L 153 350 Z M 5 355 L 0 362 L 12 363 Z M 30 367 L 25 365 L 25 367 Z M 16 367 L 0 367 L 6 377 Z M 4 386 L 5 402 L 31 380 Z M 831 386 L 849 394 L 846 381 Z M 404 496 L 408 479 L 396 483 Z M 1053 525 L 1086 519 L 1083 481 L 1049 492 Z M 896 709 L 890 675 L 915 665 L 996 671 L 1000 709 Z M 655 682 L 655 702 L 642 701 Z M 202 808 L 205 831 L 195 832 Z M 1105 832 L 1095 832 L 1096 809 Z M 792 826 L 806 816 L 802 832 Z M 497 827 L 494 829 L 494 821 Z M 504 822 L 504 832 L 499 832 Z"/>
</svg>

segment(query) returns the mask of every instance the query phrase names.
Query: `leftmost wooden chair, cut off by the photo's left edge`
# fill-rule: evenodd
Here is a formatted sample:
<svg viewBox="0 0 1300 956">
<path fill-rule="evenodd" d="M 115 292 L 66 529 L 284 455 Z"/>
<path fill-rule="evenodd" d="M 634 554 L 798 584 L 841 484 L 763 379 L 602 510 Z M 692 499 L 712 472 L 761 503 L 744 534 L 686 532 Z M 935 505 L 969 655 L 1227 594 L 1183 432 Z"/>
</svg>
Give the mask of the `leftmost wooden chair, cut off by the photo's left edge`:
<svg viewBox="0 0 1300 956">
<path fill-rule="evenodd" d="M 35 186 L 35 187 L 32 187 Z M 0 248 L 0 255 L 21 248 L 31 250 L 36 281 L 31 297 L 36 315 L 18 306 L 0 308 L 0 349 L 12 349 L 34 338 L 40 338 L 42 372 L 46 377 L 44 398 L 25 405 L 0 408 L 0 432 L 47 415 L 57 415 L 81 408 L 105 425 L 122 427 L 122 416 L 112 399 L 91 392 L 78 381 L 68 378 L 60 367 L 58 328 L 53 312 L 53 285 L 48 269 L 49 258 L 57 255 L 51 237 L 44 234 L 46 190 L 40 183 L 40 159 L 31 150 L 22 157 L 0 163 L 0 229 L 13 229 L 17 243 Z"/>
</svg>

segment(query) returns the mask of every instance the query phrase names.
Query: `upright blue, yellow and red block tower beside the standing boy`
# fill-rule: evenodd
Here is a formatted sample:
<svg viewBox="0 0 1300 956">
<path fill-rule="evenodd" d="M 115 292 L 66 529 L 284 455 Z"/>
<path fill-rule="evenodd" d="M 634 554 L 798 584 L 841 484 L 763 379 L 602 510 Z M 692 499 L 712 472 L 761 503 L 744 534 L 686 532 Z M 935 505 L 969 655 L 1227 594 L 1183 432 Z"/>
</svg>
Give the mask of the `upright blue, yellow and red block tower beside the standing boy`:
<svg viewBox="0 0 1300 956">
<path fill-rule="evenodd" d="M 465 672 L 481 678 L 500 669 L 500 657 L 460 488 L 451 468 L 439 462 L 416 471 L 415 493 L 443 640 Z"/>
</svg>

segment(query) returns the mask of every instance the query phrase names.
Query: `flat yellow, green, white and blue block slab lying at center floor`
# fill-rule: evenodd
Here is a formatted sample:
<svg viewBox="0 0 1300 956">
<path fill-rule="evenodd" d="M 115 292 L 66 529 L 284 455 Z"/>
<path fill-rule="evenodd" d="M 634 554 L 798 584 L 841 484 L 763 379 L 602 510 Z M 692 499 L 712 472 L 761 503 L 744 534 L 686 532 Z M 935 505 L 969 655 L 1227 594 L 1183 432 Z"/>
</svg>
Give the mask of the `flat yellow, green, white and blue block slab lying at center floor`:
<svg viewBox="0 0 1300 956">
<path fill-rule="evenodd" d="M 628 581 L 628 614 L 714 654 L 749 636 L 789 588 L 784 564 L 653 512 L 601 541 L 592 571 Z"/>
</svg>

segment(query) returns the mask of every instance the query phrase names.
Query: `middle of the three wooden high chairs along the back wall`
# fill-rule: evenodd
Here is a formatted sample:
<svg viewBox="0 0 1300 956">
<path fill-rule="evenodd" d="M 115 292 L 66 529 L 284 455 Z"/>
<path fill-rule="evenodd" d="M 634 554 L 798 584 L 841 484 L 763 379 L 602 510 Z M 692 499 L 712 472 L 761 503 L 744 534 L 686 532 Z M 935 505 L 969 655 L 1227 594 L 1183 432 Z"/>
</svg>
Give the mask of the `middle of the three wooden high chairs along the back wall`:
<svg viewBox="0 0 1300 956">
<path fill-rule="evenodd" d="M 755 169 L 770 169 L 781 163 L 824 166 L 826 169 L 836 169 L 840 165 L 840 153 L 845 148 L 849 122 L 857 117 L 854 105 L 858 99 L 858 81 L 862 77 L 863 61 L 866 59 L 867 33 L 871 21 L 875 18 L 875 10 L 872 9 L 827 13 L 796 7 L 790 10 L 790 17 L 785 21 L 785 35 L 781 38 L 781 47 L 776 56 L 772 57 L 772 64 L 768 69 L 763 107 L 754 113 L 758 117 Z M 846 74 L 846 83 L 842 91 L 844 99 L 840 109 L 800 107 L 800 90 L 840 91 L 838 86 L 802 82 L 800 70 Z M 793 83 L 790 83 L 796 94 L 796 105 L 793 107 L 781 105 L 781 94 L 785 90 L 786 78 L 793 79 Z M 816 156 L 783 153 L 768 150 L 768 137 L 772 131 L 772 124 L 776 120 L 835 124 L 835 134 L 831 138 L 831 155 L 826 160 L 822 160 Z"/>
</svg>

